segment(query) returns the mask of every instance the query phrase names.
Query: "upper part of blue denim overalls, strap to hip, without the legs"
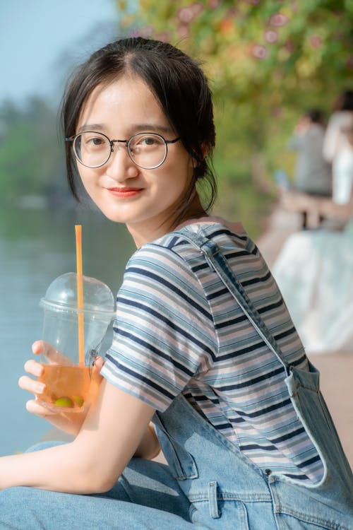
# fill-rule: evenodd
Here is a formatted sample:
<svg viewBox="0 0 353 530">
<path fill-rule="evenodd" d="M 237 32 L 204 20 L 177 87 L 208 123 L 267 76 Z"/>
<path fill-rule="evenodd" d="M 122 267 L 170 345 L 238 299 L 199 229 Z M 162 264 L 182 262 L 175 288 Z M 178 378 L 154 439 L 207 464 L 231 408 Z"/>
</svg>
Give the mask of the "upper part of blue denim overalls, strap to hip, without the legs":
<svg viewBox="0 0 353 530">
<path fill-rule="evenodd" d="M 312 486 L 270 469 L 263 474 L 179 396 L 165 413 L 156 413 L 156 425 L 164 455 L 192 503 L 191 520 L 222 530 L 353 529 L 352 471 L 319 390 L 318 371 L 310 363 L 310 372 L 287 365 L 217 245 L 181 231 L 201 249 L 285 367 L 292 403 L 325 467 L 321 483 Z"/>
</svg>

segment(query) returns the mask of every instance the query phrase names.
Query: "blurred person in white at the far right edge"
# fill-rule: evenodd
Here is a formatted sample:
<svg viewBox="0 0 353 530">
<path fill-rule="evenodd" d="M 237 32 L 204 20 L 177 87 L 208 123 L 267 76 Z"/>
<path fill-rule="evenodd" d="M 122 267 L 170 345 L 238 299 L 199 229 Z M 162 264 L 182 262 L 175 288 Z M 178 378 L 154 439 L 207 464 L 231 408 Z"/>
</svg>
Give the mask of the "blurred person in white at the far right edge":
<svg viewBox="0 0 353 530">
<path fill-rule="evenodd" d="M 323 157 L 332 163 L 333 201 L 349 204 L 353 184 L 353 90 L 345 90 L 335 103 L 323 142 Z"/>
</svg>

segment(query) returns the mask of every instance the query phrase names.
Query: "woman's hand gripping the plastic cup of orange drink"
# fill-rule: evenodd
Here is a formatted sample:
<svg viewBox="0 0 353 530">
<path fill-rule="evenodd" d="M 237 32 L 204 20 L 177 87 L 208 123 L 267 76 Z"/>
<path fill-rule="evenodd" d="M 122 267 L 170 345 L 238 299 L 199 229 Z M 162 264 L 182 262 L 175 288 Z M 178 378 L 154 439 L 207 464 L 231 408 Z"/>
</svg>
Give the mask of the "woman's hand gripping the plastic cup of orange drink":
<svg viewBox="0 0 353 530">
<path fill-rule="evenodd" d="M 32 344 L 32 352 L 35 355 L 42 355 L 43 351 L 44 345 L 42 341 L 36 341 Z M 52 348 L 52 350 L 50 350 L 50 348 L 46 348 L 46 354 L 52 362 L 54 361 L 58 364 L 65 364 L 63 363 L 64 356 L 61 355 L 61 353 L 56 352 L 54 348 Z M 92 385 L 92 388 L 97 389 L 100 382 L 102 381 L 100 370 L 103 366 L 103 363 L 104 361 L 102 357 L 97 357 L 95 360 L 95 364 L 92 367 L 92 379 L 95 379 L 95 385 Z M 37 361 L 34 359 L 30 359 L 25 363 L 25 371 L 31 376 L 40 377 L 44 372 L 44 367 L 42 367 L 42 365 L 37 363 Z M 35 394 L 35 396 L 40 396 L 40 394 L 43 394 L 45 391 L 44 383 L 38 381 L 37 379 L 32 379 L 32 377 L 29 377 L 28 375 L 23 375 L 20 377 L 20 379 L 18 379 L 18 386 L 23 390 L 28 390 L 32 394 Z M 90 397 L 91 399 L 89 401 L 90 404 L 92 404 L 92 398 L 94 398 L 94 396 Z M 28 412 L 35 414 L 36 416 L 40 416 L 40 418 L 45 418 L 56 428 L 59 428 L 70 435 L 77 435 L 81 425 L 83 424 L 83 421 L 85 420 L 85 417 L 87 416 L 90 404 L 88 404 L 88 406 L 86 406 L 82 412 L 56 413 L 49 411 L 48 408 L 42 406 L 40 401 L 38 401 L 36 398 L 27 401 L 26 408 Z"/>
</svg>

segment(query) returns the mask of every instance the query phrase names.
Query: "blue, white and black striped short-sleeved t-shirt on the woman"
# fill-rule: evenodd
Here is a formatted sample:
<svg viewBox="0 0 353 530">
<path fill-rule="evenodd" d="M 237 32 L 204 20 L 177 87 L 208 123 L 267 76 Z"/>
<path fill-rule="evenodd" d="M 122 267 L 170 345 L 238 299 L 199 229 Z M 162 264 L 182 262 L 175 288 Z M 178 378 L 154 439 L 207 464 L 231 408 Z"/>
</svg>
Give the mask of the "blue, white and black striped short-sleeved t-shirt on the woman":
<svg viewBox="0 0 353 530">
<path fill-rule="evenodd" d="M 290 365 L 307 359 L 258 248 L 237 225 L 191 223 L 221 249 Z M 240 227 L 240 229 L 239 229 Z M 184 394 L 254 464 L 316 483 L 318 452 L 297 418 L 285 370 L 201 252 L 181 232 L 143 245 L 126 265 L 102 375 L 158 411 Z"/>
</svg>

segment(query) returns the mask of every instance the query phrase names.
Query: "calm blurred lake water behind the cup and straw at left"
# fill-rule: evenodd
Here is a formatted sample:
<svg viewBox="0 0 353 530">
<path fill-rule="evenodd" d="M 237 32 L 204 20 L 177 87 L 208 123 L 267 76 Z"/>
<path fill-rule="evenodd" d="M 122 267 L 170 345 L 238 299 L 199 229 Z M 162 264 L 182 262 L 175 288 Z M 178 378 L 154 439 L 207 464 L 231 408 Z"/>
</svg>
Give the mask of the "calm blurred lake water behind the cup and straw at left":
<svg viewBox="0 0 353 530">
<path fill-rule="evenodd" d="M 31 394 L 17 382 L 42 332 L 40 298 L 54 278 L 76 270 L 75 224 L 83 227 L 83 273 L 116 293 L 135 248 L 124 225 L 88 207 L 0 210 L 0 456 L 25 450 L 50 430 L 25 410 Z"/>
</svg>

